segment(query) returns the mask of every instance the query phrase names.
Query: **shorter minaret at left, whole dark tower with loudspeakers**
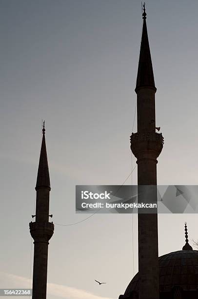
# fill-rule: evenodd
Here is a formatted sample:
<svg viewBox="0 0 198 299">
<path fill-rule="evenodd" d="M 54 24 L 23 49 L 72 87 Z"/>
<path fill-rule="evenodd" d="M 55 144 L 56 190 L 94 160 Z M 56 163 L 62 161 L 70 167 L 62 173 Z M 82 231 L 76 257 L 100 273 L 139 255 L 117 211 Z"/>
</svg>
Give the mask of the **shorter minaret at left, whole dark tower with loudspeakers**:
<svg viewBox="0 0 198 299">
<path fill-rule="evenodd" d="M 34 239 L 33 299 L 46 299 L 48 241 L 54 233 L 54 224 L 53 222 L 49 222 L 49 192 L 51 188 L 44 123 L 42 134 L 39 169 L 35 188 L 37 192 L 36 221 L 30 222 L 30 234 Z"/>
</svg>

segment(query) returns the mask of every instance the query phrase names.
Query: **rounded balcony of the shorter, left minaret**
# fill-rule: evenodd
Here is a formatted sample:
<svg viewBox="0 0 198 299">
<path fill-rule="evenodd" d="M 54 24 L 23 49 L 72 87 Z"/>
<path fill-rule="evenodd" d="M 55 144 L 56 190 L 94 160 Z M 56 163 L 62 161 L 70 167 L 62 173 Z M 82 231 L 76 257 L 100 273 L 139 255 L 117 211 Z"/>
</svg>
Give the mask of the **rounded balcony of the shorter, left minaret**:
<svg viewBox="0 0 198 299">
<path fill-rule="evenodd" d="M 35 242 L 48 242 L 54 234 L 53 222 L 30 222 L 30 234 Z"/>
</svg>

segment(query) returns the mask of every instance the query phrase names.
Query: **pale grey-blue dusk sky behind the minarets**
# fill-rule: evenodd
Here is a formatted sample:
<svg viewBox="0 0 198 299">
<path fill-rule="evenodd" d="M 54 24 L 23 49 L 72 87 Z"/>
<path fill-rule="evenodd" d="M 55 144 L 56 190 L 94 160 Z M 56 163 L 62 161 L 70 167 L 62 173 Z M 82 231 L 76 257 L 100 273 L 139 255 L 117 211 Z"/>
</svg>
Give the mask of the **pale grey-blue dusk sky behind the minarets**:
<svg viewBox="0 0 198 299">
<path fill-rule="evenodd" d="M 198 1 L 147 0 L 146 12 L 164 136 L 158 184 L 197 185 Z M 75 185 L 121 185 L 136 165 L 141 28 L 136 0 L 0 0 L 0 288 L 31 286 L 42 119 L 54 223 L 86 218 Z M 158 215 L 159 256 L 182 249 L 185 221 L 192 245 L 196 214 Z M 137 234 L 136 214 L 55 225 L 47 298 L 118 299 L 138 272 Z"/>
</svg>

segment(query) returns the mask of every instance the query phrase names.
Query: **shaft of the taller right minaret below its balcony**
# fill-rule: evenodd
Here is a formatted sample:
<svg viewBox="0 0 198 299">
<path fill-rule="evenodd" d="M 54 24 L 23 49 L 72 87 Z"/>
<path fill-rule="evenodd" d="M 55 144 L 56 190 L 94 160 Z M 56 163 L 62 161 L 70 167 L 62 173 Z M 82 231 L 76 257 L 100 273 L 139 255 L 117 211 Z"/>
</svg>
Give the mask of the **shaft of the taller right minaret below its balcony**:
<svg viewBox="0 0 198 299">
<path fill-rule="evenodd" d="M 151 156 L 151 155 L 150 155 Z M 138 185 L 157 185 L 157 163 L 146 159 L 138 163 Z M 156 198 L 152 198 L 157 203 Z M 141 199 L 139 199 L 139 202 Z M 138 215 L 139 299 L 159 298 L 158 214 Z"/>
</svg>

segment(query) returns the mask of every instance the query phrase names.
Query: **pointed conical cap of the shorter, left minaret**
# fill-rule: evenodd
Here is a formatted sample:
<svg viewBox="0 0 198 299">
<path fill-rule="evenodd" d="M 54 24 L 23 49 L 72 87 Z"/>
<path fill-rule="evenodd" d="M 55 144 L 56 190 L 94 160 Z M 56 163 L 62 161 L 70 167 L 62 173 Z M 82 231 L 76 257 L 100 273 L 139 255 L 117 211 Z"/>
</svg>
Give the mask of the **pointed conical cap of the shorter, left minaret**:
<svg viewBox="0 0 198 299">
<path fill-rule="evenodd" d="M 37 174 L 36 190 L 40 187 L 50 188 L 49 168 L 47 161 L 47 149 L 45 144 L 45 122 L 43 122 L 42 129 L 42 144 L 40 149 L 40 160 Z"/>
</svg>

